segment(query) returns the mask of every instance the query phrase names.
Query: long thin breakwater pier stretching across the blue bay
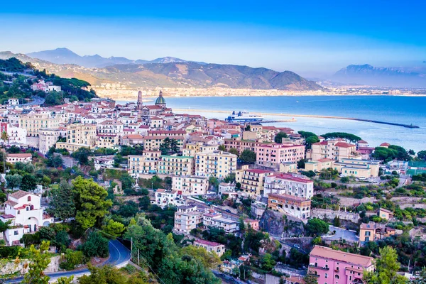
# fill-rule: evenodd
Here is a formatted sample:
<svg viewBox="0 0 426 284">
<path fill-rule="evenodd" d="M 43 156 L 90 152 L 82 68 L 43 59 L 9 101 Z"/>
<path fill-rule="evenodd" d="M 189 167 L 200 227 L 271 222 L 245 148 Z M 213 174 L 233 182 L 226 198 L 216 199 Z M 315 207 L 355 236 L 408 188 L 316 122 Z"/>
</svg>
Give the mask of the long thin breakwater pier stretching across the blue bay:
<svg viewBox="0 0 426 284">
<path fill-rule="evenodd" d="M 209 109 L 174 109 L 175 111 L 191 111 L 191 112 L 211 112 L 211 113 L 220 113 L 220 114 L 229 114 L 229 111 L 214 111 Z M 342 117 L 342 116 L 322 116 L 322 115 L 315 115 L 315 114 L 273 114 L 273 113 L 266 113 L 266 112 L 251 112 L 251 114 L 260 114 L 262 116 L 295 116 L 295 117 L 312 117 L 317 119 L 346 119 L 346 120 L 353 120 L 353 121 L 364 121 L 364 122 L 371 122 L 373 124 L 386 124 L 386 125 L 393 125 L 393 126 L 402 126 L 408 129 L 418 129 L 419 126 L 415 126 L 413 124 L 397 124 L 393 122 L 387 122 L 387 121 L 377 121 L 377 120 L 371 120 L 371 119 L 356 119 L 351 117 Z M 259 121 L 259 123 L 268 124 L 268 123 L 276 123 L 276 122 L 295 122 L 295 119 L 284 119 L 284 120 L 274 120 L 274 121 Z"/>
</svg>

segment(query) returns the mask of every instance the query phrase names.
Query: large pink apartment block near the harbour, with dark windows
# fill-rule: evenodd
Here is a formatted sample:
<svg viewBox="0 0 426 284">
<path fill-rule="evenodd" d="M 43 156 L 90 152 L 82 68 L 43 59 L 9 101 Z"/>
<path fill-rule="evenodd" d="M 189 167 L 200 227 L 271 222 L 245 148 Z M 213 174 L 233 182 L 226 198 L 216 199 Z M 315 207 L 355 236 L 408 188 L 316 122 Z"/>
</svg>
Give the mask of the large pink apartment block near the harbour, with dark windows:
<svg viewBox="0 0 426 284">
<path fill-rule="evenodd" d="M 297 162 L 305 158 L 305 146 L 293 143 L 271 143 L 256 145 L 256 163 L 266 167 L 278 168 L 280 163 Z"/>
</svg>

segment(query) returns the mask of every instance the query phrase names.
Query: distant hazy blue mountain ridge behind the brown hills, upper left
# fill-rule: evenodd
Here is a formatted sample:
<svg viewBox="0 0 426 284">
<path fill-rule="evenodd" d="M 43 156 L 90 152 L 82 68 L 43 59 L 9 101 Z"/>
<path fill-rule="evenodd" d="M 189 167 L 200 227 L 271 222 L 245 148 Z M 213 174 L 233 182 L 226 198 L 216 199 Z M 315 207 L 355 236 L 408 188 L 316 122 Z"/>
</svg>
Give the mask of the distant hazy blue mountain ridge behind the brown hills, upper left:
<svg viewBox="0 0 426 284">
<path fill-rule="evenodd" d="M 155 60 L 130 60 L 123 57 L 103 58 L 100 55 L 84 55 L 80 56 L 72 52 L 68 48 L 56 48 L 55 50 L 43 50 L 35 53 L 27 54 L 31 58 L 49 61 L 55 64 L 75 64 L 82 67 L 107 67 L 116 64 L 146 64 L 146 63 L 170 63 L 170 62 L 190 62 L 180 58 L 157 58 Z M 205 62 L 199 62 L 206 64 Z"/>
</svg>

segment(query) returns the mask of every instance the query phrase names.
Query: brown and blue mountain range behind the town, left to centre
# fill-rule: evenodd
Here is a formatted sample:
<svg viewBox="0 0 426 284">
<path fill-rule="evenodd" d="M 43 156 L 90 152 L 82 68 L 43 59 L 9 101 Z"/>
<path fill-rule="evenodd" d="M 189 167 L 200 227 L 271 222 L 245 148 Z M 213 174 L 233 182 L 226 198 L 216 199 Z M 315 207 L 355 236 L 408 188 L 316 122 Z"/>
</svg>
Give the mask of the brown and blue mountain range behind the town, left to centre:
<svg viewBox="0 0 426 284">
<path fill-rule="evenodd" d="M 289 91 L 322 89 L 315 82 L 306 80 L 291 71 L 277 72 L 267 68 L 190 62 L 178 58 L 158 58 L 152 62 L 140 63 L 138 60 L 128 62 L 126 58 L 102 59 L 99 55 L 80 56 L 67 49 L 45 50 L 28 55 L 0 52 L 0 58 L 11 57 L 16 57 L 23 62 L 31 62 L 35 67 L 46 69 L 61 77 L 77 77 L 94 85 L 119 82 L 132 89 L 143 87 L 224 87 Z M 86 65 L 90 60 L 96 61 L 97 65 L 107 64 L 107 61 L 100 63 L 101 60 L 114 60 L 115 64 L 104 67 L 84 67 L 79 61 L 82 58 L 86 60 L 84 63 Z M 117 62 L 126 63 L 117 64 Z"/>
</svg>

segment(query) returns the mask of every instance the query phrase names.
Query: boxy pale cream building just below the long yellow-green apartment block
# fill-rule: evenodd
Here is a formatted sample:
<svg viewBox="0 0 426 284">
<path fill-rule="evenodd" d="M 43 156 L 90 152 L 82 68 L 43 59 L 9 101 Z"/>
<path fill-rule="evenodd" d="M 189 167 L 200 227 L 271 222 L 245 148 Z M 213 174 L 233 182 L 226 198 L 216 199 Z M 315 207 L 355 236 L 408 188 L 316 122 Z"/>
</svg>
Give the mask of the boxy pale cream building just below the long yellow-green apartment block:
<svg viewBox="0 0 426 284">
<path fill-rule="evenodd" d="M 172 189 L 180 192 L 183 196 L 206 195 L 209 189 L 209 180 L 196 175 L 174 175 Z"/>
</svg>

